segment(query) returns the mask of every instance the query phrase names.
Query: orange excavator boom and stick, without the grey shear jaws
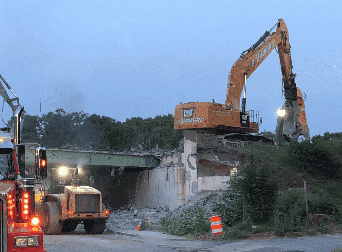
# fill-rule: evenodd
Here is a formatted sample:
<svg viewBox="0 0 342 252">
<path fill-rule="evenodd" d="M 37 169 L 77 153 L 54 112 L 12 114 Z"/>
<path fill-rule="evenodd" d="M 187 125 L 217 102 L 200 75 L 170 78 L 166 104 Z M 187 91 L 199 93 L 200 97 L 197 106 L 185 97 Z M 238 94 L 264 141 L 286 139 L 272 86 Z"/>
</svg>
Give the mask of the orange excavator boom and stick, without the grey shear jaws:
<svg viewBox="0 0 342 252">
<path fill-rule="evenodd" d="M 276 32 L 271 33 L 275 26 L 277 26 Z M 285 98 L 287 101 L 297 101 L 297 89 L 294 82 L 296 74 L 292 73 L 289 33 L 284 20 L 278 19 L 272 29 L 266 31 L 252 47 L 242 52 L 230 70 L 225 102 L 227 109 L 240 110 L 240 97 L 244 85 L 246 89 L 246 80 L 276 46 L 278 47 Z M 246 103 L 245 97 L 243 102 Z"/>
</svg>

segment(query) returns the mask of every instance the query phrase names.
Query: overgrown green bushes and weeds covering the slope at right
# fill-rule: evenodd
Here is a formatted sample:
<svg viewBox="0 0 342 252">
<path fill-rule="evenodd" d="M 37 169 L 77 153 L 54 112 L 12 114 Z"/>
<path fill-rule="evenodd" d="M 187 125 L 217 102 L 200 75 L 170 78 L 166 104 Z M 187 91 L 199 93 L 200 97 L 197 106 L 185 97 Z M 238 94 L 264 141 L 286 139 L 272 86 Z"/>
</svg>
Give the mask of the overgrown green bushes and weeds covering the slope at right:
<svg viewBox="0 0 342 252">
<path fill-rule="evenodd" d="M 320 223 L 307 223 L 302 185 L 294 184 L 293 188 L 278 191 L 277 181 L 269 179 L 271 171 L 268 170 L 268 164 L 271 162 L 287 171 L 302 172 L 307 182 L 337 180 L 342 167 L 340 135 L 342 134 L 326 133 L 323 137 L 314 136 L 311 141 L 291 143 L 280 149 L 260 144 L 246 149 L 250 162 L 244 165 L 244 172 L 240 174 L 242 176 L 229 182 L 230 188 L 212 205 L 215 213 L 221 216 L 224 229 L 221 239 L 241 239 L 249 234 L 265 232 L 275 235 L 291 233 L 293 236 L 301 236 L 303 232 L 309 235 L 315 235 L 316 232 L 329 233 L 331 230 L 326 217 L 321 218 Z M 277 177 L 276 170 L 274 172 L 273 177 Z M 342 223 L 341 183 L 310 185 L 314 194 L 307 197 L 308 212 L 334 216 Z M 245 222 L 242 223 L 244 201 Z M 180 225 L 185 223 L 180 222 L 181 218 L 168 218 L 168 222 L 167 219 L 164 220 L 163 226 L 173 226 L 172 234 L 194 232 L 188 225 Z"/>
</svg>

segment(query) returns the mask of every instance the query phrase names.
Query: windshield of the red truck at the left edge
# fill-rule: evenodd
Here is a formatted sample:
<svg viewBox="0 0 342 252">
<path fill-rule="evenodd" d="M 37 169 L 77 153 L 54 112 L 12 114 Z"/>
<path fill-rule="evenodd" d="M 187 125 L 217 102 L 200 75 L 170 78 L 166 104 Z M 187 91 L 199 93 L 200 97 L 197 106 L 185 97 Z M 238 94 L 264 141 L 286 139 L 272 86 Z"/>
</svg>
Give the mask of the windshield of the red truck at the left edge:
<svg viewBox="0 0 342 252">
<path fill-rule="evenodd" d="M 2 181 L 17 179 L 12 150 L 10 148 L 0 148 L 0 180 Z"/>
</svg>

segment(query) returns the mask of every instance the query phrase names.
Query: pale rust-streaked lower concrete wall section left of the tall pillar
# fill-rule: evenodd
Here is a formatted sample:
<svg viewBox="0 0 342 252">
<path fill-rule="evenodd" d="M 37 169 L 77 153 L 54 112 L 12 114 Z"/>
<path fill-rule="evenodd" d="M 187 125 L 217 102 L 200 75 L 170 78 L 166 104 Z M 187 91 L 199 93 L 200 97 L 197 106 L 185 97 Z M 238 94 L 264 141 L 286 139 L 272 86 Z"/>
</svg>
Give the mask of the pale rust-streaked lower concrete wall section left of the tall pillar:
<svg viewBox="0 0 342 252">
<path fill-rule="evenodd" d="M 172 211 L 185 203 L 184 167 L 142 172 L 138 181 L 137 205 L 168 205 Z"/>
</svg>

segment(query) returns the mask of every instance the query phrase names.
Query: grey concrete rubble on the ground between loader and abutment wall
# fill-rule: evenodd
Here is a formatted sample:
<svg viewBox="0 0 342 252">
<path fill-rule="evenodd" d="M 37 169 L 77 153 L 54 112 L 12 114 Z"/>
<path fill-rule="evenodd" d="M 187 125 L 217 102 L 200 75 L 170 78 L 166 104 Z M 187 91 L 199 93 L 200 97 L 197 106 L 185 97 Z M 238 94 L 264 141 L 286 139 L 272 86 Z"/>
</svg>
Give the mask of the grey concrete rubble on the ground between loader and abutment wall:
<svg viewBox="0 0 342 252">
<path fill-rule="evenodd" d="M 145 220 L 147 224 L 148 216 L 153 227 L 159 226 L 161 218 L 169 212 L 168 208 L 166 205 L 156 205 L 140 210 L 131 207 L 129 211 L 111 213 L 104 233 L 113 233 L 116 230 L 135 230 L 140 220 Z"/>
</svg>

